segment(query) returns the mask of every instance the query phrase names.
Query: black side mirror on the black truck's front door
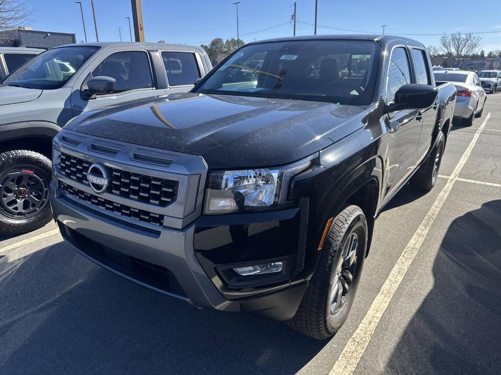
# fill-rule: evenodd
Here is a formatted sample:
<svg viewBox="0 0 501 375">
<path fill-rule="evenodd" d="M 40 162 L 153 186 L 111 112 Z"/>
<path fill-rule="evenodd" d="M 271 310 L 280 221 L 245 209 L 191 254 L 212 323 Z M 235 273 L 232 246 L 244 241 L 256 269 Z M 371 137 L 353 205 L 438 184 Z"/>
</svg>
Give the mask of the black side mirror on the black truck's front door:
<svg viewBox="0 0 501 375">
<path fill-rule="evenodd" d="M 388 105 L 388 112 L 427 108 L 433 105 L 437 95 L 436 88 L 429 84 L 404 84 L 395 93 L 395 102 Z"/>
</svg>

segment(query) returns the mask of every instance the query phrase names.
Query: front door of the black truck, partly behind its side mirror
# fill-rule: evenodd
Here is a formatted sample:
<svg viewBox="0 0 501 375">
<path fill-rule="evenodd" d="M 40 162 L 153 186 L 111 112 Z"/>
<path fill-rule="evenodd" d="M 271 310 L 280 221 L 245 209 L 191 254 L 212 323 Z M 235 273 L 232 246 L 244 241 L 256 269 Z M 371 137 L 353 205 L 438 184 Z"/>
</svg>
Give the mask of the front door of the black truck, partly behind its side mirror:
<svg viewBox="0 0 501 375">
<path fill-rule="evenodd" d="M 413 83 L 412 70 L 407 48 L 394 46 L 387 64 L 386 103 L 394 101 L 397 90 L 407 83 Z M 417 148 L 421 133 L 422 111 L 402 109 L 388 113 L 385 125 L 389 135 L 389 149 L 386 160 L 386 195 L 400 187 L 417 164 Z"/>
</svg>

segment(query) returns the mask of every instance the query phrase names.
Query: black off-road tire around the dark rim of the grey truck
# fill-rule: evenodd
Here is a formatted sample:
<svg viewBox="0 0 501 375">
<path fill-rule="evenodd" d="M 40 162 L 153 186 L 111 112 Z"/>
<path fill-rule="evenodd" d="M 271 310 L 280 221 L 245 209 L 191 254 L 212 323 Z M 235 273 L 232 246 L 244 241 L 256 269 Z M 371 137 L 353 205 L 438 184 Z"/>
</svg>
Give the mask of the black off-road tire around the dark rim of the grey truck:
<svg viewBox="0 0 501 375">
<path fill-rule="evenodd" d="M 25 217 L 13 216 L 3 204 L 7 194 L 6 187 L 2 186 L 11 172 L 19 171 L 29 175 L 31 181 L 38 182 L 44 189 L 44 195 L 40 208 Z M 49 183 L 51 179 L 52 164 L 41 153 L 26 150 L 10 150 L 0 153 L 0 235 L 26 233 L 47 224 L 52 217 L 49 203 Z M 36 181 L 34 180 L 36 178 Z M 7 199 L 7 198 L 6 198 Z"/>
</svg>

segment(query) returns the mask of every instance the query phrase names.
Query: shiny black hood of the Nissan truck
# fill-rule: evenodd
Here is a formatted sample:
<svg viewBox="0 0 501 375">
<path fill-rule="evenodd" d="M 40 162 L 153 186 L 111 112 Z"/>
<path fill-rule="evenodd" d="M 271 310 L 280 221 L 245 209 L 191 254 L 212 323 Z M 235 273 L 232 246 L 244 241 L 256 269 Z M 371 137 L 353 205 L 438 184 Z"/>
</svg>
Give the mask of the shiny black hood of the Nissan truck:
<svg viewBox="0 0 501 375">
<path fill-rule="evenodd" d="M 311 155 L 363 127 L 366 113 L 356 105 L 182 93 L 91 111 L 66 128 L 235 168 Z"/>
</svg>

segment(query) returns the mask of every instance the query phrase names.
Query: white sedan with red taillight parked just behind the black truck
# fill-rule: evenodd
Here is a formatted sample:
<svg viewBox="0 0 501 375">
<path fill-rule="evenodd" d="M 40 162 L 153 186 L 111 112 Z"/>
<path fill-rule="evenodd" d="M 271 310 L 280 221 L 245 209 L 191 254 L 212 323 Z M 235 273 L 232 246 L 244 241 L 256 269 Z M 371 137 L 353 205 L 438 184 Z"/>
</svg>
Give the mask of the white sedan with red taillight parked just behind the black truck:
<svg viewBox="0 0 501 375">
<path fill-rule="evenodd" d="M 435 82 L 438 85 L 452 82 L 456 86 L 457 98 L 454 118 L 461 118 L 463 124 L 471 126 L 475 117 L 480 117 L 487 94 L 482 88 L 480 78 L 473 71 L 435 71 Z"/>
</svg>

